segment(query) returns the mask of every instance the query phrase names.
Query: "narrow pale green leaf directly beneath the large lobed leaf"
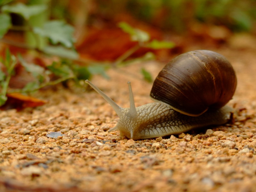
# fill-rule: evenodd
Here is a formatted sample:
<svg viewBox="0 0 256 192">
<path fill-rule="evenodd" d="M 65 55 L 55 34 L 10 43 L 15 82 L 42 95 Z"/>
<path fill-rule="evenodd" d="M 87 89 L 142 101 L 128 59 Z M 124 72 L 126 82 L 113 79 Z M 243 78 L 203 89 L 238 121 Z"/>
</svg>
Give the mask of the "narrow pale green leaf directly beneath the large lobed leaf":
<svg viewBox="0 0 256 192">
<path fill-rule="evenodd" d="M 76 60 L 79 58 L 79 55 L 76 51 L 72 49 L 67 49 L 62 46 L 47 46 L 43 50 L 47 54 L 57 55 L 62 58 Z"/>
</svg>

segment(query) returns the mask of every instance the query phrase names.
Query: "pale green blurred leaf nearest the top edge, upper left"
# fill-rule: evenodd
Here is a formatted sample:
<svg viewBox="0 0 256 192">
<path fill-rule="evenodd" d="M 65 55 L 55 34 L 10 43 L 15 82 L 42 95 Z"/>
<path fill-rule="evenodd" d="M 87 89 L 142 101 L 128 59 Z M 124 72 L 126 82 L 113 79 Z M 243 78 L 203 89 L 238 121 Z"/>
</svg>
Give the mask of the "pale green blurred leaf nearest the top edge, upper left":
<svg viewBox="0 0 256 192">
<path fill-rule="evenodd" d="M 2 7 L 3 12 L 17 13 L 20 14 L 24 19 L 28 20 L 31 16 L 37 15 L 47 8 L 46 5 L 25 5 L 22 3 L 14 4 L 14 5 L 4 5 Z"/>
</svg>

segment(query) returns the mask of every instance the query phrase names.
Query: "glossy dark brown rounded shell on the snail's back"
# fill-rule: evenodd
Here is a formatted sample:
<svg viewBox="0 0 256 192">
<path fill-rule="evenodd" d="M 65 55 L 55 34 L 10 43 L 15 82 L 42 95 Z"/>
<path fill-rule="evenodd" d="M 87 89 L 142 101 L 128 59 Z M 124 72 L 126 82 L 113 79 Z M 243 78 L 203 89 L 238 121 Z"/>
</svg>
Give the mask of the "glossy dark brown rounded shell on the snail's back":
<svg viewBox="0 0 256 192">
<path fill-rule="evenodd" d="M 198 50 L 175 57 L 156 77 L 150 96 L 183 114 L 199 116 L 232 99 L 236 74 L 219 53 Z"/>
</svg>

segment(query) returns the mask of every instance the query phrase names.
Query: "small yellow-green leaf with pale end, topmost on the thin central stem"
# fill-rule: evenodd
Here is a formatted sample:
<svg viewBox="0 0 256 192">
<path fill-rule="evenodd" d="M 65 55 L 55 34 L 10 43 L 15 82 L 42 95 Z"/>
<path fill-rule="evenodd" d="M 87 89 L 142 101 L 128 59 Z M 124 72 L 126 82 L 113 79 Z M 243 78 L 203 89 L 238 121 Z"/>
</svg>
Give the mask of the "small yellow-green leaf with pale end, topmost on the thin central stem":
<svg viewBox="0 0 256 192">
<path fill-rule="evenodd" d="M 147 32 L 138 28 L 133 28 L 126 22 L 120 22 L 118 26 L 131 36 L 132 41 L 147 42 L 150 39 L 150 36 Z"/>
</svg>

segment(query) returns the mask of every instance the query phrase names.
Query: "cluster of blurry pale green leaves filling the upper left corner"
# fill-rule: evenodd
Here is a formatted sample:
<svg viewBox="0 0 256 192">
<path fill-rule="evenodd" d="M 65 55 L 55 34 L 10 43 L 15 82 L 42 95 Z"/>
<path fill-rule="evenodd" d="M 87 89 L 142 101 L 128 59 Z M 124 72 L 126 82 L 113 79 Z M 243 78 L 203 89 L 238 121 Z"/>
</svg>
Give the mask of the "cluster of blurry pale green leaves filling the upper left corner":
<svg viewBox="0 0 256 192">
<path fill-rule="evenodd" d="M 0 38 L 9 29 L 23 30 L 27 35 L 28 48 L 73 60 L 78 59 L 78 54 L 74 49 L 75 40 L 72 37 L 74 28 L 63 20 L 42 19 L 48 14 L 48 0 L 42 2 L 32 5 L 22 3 L 3 5 L 0 13 L 0 22 L 2 23 Z M 24 24 L 18 27 L 13 25 L 11 14 L 22 17 Z M 37 17 L 42 14 L 44 17 Z"/>
</svg>

